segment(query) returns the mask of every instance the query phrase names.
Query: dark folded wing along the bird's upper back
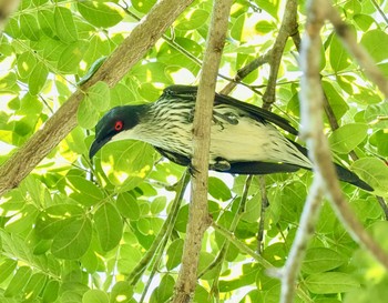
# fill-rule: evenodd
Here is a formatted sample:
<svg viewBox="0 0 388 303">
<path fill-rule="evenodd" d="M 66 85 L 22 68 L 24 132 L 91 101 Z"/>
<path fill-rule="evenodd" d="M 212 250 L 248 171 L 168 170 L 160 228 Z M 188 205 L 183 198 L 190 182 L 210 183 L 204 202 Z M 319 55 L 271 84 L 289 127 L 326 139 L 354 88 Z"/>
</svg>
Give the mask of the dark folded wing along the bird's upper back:
<svg viewBox="0 0 388 303">
<path fill-rule="evenodd" d="M 193 99 L 195 100 L 196 93 L 197 93 L 197 87 L 190 87 L 190 85 L 171 85 L 171 87 L 167 87 L 163 92 L 164 97 L 180 97 L 182 99 L 190 99 L 190 100 L 193 100 Z M 295 134 L 295 135 L 298 134 L 298 131 L 289 123 L 288 120 L 270 111 L 264 110 L 262 108 L 255 107 L 246 102 L 238 101 L 225 94 L 216 93 L 214 98 L 214 105 L 218 105 L 218 104 L 226 104 L 226 105 L 237 108 L 239 110 L 244 110 L 247 113 L 249 113 L 249 115 L 253 119 L 257 121 L 270 122 L 292 134 Z"/>
</svg>

